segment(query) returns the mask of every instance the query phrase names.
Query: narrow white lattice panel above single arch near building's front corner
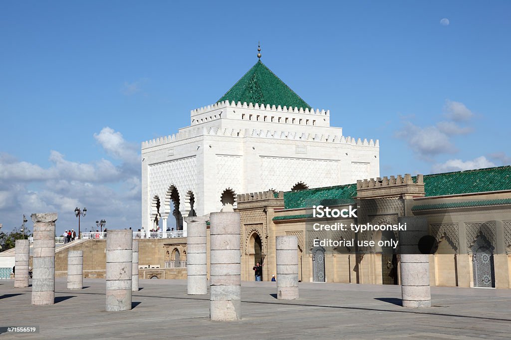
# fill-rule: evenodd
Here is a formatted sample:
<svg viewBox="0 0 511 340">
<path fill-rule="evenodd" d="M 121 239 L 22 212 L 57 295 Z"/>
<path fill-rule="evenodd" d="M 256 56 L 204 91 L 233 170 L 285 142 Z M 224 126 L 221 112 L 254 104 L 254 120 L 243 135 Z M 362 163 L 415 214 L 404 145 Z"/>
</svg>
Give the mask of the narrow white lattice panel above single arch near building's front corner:
<svg viewBox="0 0 511 340">
<path fill-rule="evenodd" d="M 216 155 L 216 197 L 220 202 L 222 192 L 231 188 L 237 195 L 243 190 L 243 158 L 242 156 Z"/>
</svg>

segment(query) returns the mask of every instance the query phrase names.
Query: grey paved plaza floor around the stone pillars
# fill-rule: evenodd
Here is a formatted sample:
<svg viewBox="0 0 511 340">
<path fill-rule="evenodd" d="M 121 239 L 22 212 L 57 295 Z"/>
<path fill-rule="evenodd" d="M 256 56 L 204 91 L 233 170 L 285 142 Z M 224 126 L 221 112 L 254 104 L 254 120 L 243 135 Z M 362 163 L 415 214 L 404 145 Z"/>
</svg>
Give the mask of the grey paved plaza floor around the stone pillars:
<svg viewBox="0 0 511 340">
<path fill-rule="evenodd" d="M 133 309 L 105 311 L 105 281 L 67 290 L 55 305 L 31 306 L 31 287 L 0 281 L 0 326 L 39 326 L 1 338 L 508 339 L 511 290 L 431 287 L 432 307 L 403 308 L 401 287 L 300 283 L 299 300 L 277 300 L 275 282 L 242 283 L 242 320 L 209 320 L 209 295 L 188 296 L 186 280 L 140 280 Z"/>
</svg>

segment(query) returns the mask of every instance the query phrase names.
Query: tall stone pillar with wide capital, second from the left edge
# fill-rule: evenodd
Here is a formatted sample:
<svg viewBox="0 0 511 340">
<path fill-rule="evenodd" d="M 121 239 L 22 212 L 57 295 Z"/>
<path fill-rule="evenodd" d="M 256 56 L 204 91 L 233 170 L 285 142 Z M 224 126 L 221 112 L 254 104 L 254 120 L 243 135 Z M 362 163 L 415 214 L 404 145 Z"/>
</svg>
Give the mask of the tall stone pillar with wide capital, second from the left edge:
<svg viewBox="0 0 511 340">
<path fill-rule="evenodd" d="M 57 213 L 32 214 L 34 255 L 32 258 L 32 304 L 55 303 L 55 221 Z"/>
</svg>

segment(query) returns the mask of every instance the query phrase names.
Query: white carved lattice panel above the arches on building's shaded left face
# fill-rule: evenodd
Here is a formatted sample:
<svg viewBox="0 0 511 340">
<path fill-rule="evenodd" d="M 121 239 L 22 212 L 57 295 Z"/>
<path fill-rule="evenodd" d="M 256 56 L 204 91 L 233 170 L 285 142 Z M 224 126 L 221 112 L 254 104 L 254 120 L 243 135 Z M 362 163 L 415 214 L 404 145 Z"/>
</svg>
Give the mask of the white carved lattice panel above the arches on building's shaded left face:
<svg viewBox="0 0 511 340">
<path fill-rule="evenodd" d="M 171 185 L 174 185 L 179 192 L 179 196 L 184 198 L 187 191 L 195 191 L 197 180 L 196 157 L 182 158 L 164 163 L 152 164 L 148 168 L 149 173 L 149 197 L 158 196 L 160 204 Z M 201 198 L 195 197 L 195 205 Z M 165 212 L 170 213 L 170 205 L 165 206 Z M 184 213 L 185 205 L 181 204 L 179 210 Z"/>
</svg>

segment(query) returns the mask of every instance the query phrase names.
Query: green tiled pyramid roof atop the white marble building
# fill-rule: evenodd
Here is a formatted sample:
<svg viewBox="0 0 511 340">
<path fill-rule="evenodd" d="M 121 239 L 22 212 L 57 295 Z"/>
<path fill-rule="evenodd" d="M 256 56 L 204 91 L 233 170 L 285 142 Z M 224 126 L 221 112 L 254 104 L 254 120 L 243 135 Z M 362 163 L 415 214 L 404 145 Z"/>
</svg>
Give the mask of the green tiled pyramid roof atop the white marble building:
<svg viewBox="0 0 511 340">
<path fill-rule="evenodd" d="M 281 107 L 308 108 L 311 106 L 258 60 L 218 102 L 241 102 Z"/>
</svg>

